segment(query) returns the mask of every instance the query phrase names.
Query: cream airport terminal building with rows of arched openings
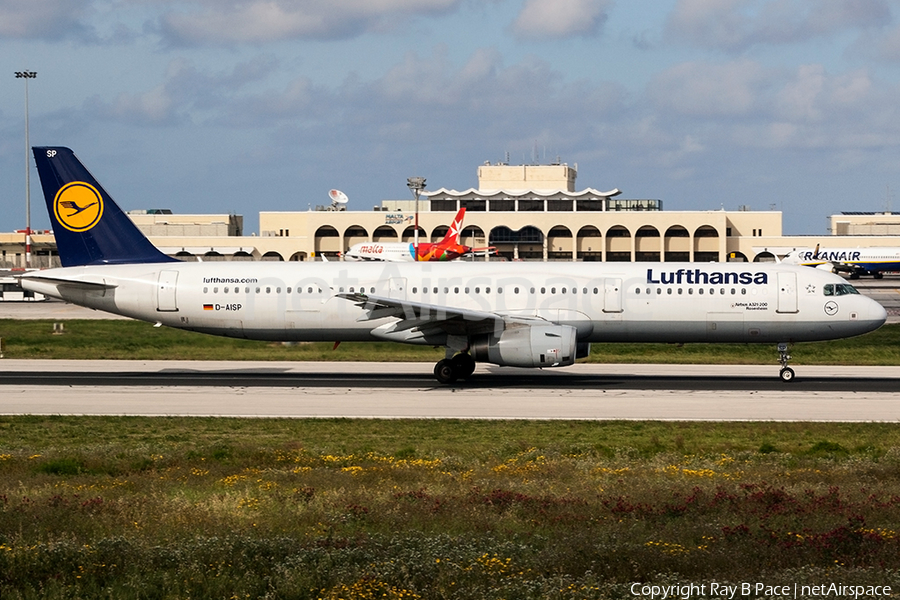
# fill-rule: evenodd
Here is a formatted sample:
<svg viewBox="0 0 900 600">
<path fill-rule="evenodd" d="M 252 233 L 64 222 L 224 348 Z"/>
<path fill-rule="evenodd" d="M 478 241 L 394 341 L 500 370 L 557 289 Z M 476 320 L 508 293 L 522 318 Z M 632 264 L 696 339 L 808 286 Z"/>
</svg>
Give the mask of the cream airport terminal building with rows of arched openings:
<svg viewBox="0 0 900 600">
<path fill-rule="evenodd" d="M 794 248 L 897 245 L 900 214 L 844 213 L 831 235 L 784 236 L 781 212 L 671 211 L 658 199 L 628 199 L 618 190 L 576 189 L 577 166 L 485 163 L 478 187 L 423 191 L 419 239 L 444 236 L 466 208 L 461 242 L 494 246 L 497 259 L 538 261 L 772 261 Z M 371 211 L 260 212 L 258 234 L 244 235 L 240 215 L 131 211 L 163 252 L 182 260 L 308 261 L 341 254 L 359 242 L 412 242 L 414 200 L 383 200 Z M 24 232 L 0 233 L 0 268 L 25 266 Z M 33 235 L 32 266 L 58 265 L 52 232 Z"/>
</svg>

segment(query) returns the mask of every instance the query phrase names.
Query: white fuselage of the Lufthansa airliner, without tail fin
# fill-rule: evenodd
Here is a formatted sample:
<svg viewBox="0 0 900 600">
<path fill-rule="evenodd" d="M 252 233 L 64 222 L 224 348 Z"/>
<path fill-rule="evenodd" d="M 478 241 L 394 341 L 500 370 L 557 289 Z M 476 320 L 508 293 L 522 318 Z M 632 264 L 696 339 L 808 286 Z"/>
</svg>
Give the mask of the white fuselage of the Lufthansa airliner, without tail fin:
<svg viewBox="0 0 900 600">
<path fill-rule="evenodd" d="M 839 276 L 755 263 L 176 262 L 34 275 L 22 277 L 24 287 L 82 306 L 279 341 L 383 339 L 379 331 L 398 318 L 367 316 L 337 296 L 348 292 L 567 324 L 580 342 L 824 340 L 886 318 L 870 298 L 836 293 L 852 289 Z M 398 341 L 441 343 L 433 335 Z"/>
</svg>

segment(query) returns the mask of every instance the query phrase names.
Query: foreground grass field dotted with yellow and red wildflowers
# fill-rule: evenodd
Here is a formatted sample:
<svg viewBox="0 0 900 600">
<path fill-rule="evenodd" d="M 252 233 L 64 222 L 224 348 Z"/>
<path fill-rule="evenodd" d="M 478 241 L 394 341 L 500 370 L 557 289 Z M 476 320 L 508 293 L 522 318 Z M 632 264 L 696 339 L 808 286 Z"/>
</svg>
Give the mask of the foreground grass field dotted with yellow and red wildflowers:
<svg viewBox="0 0 900 600">
<path fill-rule="evenodd" d="M 898 523 L 891 424 L 0 418 L 4 600 L 897 590 Z"/>
</svg>

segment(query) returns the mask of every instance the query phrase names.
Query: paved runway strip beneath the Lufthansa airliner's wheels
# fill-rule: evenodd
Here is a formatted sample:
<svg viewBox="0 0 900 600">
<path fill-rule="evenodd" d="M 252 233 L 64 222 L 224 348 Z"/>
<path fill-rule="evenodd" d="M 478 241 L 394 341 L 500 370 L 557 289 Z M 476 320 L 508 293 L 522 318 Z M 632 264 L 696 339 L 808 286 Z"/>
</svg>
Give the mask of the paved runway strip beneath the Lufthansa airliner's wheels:
<svg viewBox="0 0 900 600">
<path fill-rule="evenodd" d="M 900 421 L 900 367 L 0 360 L 0 414 Z"/>
</svg>

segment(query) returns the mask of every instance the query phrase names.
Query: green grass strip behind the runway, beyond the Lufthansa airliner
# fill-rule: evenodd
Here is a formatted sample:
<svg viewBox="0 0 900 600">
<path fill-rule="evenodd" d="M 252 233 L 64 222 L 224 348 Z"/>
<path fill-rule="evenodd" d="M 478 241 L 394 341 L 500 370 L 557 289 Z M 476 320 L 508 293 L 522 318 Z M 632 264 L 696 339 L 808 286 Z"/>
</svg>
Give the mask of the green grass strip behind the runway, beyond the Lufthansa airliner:
<svg viewBox="0 0 900 600">
<path fill-rule="evenodd" d="M 139 321 L 0 320 L 8 358 L 172 360 L 437 361 L 443 349 L 389 342 L 272 344 L 153 327 Z M 900 365 L 900 325 L 857 338 L 796 344 L 795 365 Z M 590 362 L 774 364 L 774 344 L 592 344 Z"/>
</svg>

